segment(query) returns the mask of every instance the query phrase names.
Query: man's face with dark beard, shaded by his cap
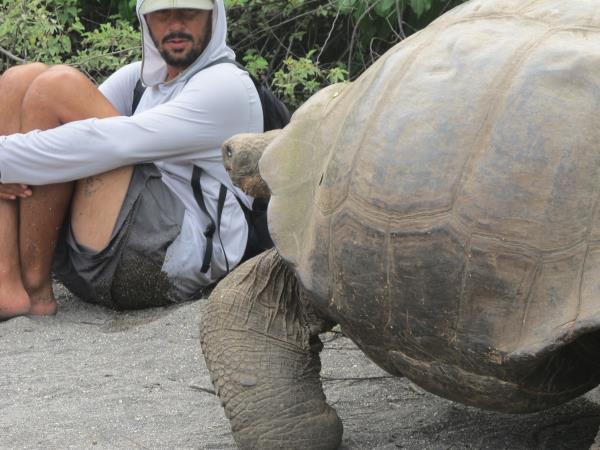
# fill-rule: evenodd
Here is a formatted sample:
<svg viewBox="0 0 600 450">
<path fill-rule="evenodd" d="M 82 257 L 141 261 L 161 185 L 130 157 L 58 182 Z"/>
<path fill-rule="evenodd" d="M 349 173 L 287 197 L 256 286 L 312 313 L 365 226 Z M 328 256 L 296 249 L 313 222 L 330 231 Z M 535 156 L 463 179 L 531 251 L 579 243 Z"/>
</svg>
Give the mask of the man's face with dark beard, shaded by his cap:
<svg viewBox="0 0 600 450">
<path fill-rule="evenodd" d="M 145 18 L 154 44 L 169 66 L 185 69 L 202 54 L 210 40 L 212 11 L 161 9 Z"/>
</svg>

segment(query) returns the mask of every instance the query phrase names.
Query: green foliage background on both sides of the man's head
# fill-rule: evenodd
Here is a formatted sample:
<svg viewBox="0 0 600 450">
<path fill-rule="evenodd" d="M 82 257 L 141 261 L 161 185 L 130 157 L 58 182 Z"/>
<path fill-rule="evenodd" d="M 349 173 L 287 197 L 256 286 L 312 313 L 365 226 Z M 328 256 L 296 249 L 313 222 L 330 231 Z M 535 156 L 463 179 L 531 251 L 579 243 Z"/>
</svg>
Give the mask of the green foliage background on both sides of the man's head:
<svg viewBox="0 0 600 450">
<path fill-rule="evenodd" d="M 464 0 L 225 0 L 229 43 L 292 108 L 360 75 Z M 0 71 L 67 63 L 96 82 L 140 58 L 135 0 L 0 0 Z"/>
</svg>

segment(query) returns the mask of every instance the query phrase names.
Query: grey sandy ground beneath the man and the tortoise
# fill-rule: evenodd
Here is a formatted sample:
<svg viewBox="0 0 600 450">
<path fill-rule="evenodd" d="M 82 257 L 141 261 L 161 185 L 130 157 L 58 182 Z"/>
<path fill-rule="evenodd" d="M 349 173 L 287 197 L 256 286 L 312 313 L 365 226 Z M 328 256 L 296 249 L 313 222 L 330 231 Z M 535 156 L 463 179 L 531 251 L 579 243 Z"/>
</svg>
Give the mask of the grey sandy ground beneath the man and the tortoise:
<svg viewBox="0 0 600 450">
<path fill-rule="evenodd" d="M 200 353 L 206 300 L 118 313 L 56 289 L 57 316 L 0 322 L 0 448 L 235 448 Z M 344 337 L 324 339 L 342 449 L 585 449 L 600 424 L 598 390 L 542 413 L 490 413 L 389 377 Z"/>
</svg>

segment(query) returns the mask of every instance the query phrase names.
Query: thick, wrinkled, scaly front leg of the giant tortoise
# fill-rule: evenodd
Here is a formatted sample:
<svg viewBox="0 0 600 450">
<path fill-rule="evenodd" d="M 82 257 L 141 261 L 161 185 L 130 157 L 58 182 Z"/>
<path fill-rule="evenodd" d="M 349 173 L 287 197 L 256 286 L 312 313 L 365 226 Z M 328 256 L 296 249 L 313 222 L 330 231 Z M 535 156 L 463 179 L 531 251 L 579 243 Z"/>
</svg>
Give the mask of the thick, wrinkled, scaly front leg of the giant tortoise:
<svg viewBox="0 0 600 450">
<path fill-rule="evenodd" d="M 342 423 L 325 402 L 319 377 L 324 322 L 309 309 L 275 250 L 240 266 L 209 298 L 202 350 L 242 449 L 340 444 Z"/>
</svg>

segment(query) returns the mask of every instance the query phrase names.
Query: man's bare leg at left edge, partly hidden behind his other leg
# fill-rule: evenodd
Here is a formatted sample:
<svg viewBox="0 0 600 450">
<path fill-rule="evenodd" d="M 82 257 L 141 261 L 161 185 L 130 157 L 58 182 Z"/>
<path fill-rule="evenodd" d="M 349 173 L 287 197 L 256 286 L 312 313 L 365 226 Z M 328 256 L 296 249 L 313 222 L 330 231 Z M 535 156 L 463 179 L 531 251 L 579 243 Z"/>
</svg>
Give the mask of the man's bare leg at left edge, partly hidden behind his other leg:
<svg viewBox="0 0 600 450">
<path fill-rule="evenodd" d="M 30 64 L 7 70 L 0 78 L 0 135 L 21 128 L 21 104 L 29 85 L 48 67 Z M 27 314 L 30 300 L 21 279 L 17 200 L 0 200 L 0 320 Z"/>
</svg>

